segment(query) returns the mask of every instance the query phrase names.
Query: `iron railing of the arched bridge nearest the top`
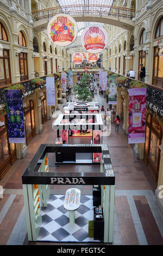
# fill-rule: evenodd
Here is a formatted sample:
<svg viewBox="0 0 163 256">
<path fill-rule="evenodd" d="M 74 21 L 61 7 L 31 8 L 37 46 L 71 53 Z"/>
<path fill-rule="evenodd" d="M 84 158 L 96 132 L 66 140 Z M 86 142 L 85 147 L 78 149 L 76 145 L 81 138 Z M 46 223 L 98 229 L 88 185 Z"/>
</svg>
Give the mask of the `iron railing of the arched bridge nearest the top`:
<svg viewBox="0 0 163 256">
<path fill-rule="evenodd" d="M 135 16 L 135 10 L 116 7 L 112 5 L 89 5 L 89 4 L 74 4 L 61 7 L 48 8 L 32 12 L 33 21 L 39 21 L 49 19 L 59 13 L 65 13 L 69 15 L 103 15 L 122 17 L 125 19 L 133 19 Z"/>
</svg>

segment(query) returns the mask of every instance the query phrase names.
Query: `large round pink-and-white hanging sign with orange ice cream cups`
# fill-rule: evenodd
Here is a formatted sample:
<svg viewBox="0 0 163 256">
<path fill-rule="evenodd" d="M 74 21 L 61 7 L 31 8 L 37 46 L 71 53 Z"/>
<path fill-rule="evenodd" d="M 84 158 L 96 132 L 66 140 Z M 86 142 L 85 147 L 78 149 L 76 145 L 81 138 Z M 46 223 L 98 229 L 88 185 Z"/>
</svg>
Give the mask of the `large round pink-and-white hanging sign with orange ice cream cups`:
<svg viewBox="0 0 163 256">
<path fill-rule="evenodd" d="M 108 33 L 99 25 L 86 27 L 81 35 L 83 48 L 90 53 L 99 53 L 108 45 Z"/>
</svg>

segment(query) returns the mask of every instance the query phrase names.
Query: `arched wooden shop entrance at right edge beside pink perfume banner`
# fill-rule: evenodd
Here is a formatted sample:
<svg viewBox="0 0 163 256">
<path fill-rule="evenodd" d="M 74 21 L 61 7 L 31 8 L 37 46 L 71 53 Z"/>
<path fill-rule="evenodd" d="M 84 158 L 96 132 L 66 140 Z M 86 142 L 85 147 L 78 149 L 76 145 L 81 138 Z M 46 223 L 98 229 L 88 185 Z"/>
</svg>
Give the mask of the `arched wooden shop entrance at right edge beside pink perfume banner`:
<svg viewBox="0 0 163 256">
<path fill-rule="evenodd" d="M 152 114 L 148 114 L 146 122 L 146 142 L 144 161 L 148 166 L 154 180 L 158 182 L 160 166 L 160 149 L 159 145 L 162 140 L 161 125 Z"/>
</svg>

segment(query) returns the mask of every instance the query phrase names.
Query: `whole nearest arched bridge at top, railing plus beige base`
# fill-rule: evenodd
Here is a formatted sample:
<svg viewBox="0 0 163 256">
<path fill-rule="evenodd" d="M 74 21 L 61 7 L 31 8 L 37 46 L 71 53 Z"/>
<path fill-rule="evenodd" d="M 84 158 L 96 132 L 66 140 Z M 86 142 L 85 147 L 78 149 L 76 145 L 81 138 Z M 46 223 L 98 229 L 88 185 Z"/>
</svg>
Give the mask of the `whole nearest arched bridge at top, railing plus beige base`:
<svg viewBox="0 0 163 256">
<path fill-rule="evenodd" d="M 32 13 L 34 30 L 37 32 L 43 31 L 47 28 L 49 19 L 60 13 L 71 15 L 77 22 L 101 22 L 128 29 L 129 31 L 134 28 L 132 19 L 135 17 L 135 10 L 133 9 L 112 5 L 78 4 L 34 11 Z"/>
</svg>

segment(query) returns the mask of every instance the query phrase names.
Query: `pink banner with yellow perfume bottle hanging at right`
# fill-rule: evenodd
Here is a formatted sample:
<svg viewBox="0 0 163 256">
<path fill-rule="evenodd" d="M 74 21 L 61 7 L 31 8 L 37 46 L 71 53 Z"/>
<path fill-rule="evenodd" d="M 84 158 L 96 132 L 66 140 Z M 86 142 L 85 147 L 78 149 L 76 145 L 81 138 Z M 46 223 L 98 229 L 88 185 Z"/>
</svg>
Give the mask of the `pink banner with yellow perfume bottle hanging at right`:
<svg viewBox="0 0 163 256">
<path fill-rule="evenodd" d="M 146 88 L 129 89 L 128 143 L 145 143 Z"/>
</svg>

